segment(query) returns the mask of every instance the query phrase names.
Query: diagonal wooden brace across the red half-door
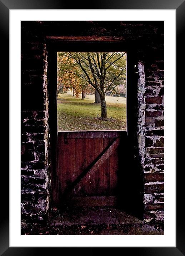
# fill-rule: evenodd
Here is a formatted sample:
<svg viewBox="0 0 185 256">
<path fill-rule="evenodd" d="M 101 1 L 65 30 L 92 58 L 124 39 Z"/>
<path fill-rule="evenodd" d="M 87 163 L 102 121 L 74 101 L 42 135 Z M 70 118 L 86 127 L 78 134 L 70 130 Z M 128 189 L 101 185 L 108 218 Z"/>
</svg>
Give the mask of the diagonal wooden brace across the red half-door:
<svg viewBox="0 0 185 256">
<path fill-rule="evenodd" d="M 65 189 L 64 196 L 70 194 L 72 189 L 74 189 L 74 193 L 76 195 L 77 192 L 80 191 L 82 186 L 84 186 L 87 181 L 89 181 L 90 177 L 99 169 L 99 167 L 106 161 L 108 157 L 115 151 L 115 149 L 120 144 L 120 138 L 116 138 L 111 144 L 109 144 L 104 151 L 95 159 L 95 161 L 82 172 L 75 181 Z"/>
</svg>

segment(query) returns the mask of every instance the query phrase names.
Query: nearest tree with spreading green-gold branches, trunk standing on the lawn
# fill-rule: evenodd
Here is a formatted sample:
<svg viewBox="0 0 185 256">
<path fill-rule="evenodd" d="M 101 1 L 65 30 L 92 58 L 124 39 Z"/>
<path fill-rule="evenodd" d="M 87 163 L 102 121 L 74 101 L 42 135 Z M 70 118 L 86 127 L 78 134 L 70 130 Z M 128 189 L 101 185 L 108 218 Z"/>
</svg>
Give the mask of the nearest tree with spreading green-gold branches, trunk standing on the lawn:
<svg viewBox="0 0 185 256">
<path fill-rule="evenodd" d="M 63 59 L 62 72 L 84 79 L 99 93 L 101 117 L 107 117 L 105 94 L 110 88 L 126 80 L 126 53 L 59 53 Z M 66 65 L 71 64 L 69 69 Z M 76 68 L 76 69 L 75 69 Z M 82 73 L 81 73 L 82 72 Z"/>
</svg>

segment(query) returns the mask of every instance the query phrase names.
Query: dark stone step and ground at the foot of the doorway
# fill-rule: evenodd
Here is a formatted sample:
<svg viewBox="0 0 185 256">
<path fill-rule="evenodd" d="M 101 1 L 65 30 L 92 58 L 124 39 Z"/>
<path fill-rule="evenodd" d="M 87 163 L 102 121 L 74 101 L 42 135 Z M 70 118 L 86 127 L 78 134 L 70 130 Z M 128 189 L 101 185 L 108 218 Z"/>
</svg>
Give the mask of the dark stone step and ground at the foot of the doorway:
<svg viewBox="0 0 185 256">
<path fill-rule="evenodd" d="M 114 207 L 54 208 L 47 225 L 26 225 L 21 235 L 163 235 L 139 218 Z"/>
</svg>

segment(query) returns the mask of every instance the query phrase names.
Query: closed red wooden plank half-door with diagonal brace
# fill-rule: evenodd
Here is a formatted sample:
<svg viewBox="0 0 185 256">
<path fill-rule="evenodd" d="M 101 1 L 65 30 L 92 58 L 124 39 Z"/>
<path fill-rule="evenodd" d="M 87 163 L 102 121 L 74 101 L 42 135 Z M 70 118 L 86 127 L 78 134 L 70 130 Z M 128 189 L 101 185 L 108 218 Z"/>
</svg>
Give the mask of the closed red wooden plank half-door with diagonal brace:
<svg viewBox="0 0 185 256">
<path fill-rule="evenodd" d="M 61 203 L 115 205 L 124 142 L 126 131 L 58 132 Z"/>
</svg>

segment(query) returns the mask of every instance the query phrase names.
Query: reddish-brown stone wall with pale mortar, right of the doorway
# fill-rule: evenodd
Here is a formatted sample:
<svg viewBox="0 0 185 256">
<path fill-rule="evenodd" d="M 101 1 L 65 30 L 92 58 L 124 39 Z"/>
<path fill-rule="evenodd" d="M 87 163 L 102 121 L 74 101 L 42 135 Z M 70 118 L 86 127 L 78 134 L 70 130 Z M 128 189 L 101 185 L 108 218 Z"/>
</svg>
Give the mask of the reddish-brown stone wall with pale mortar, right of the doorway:
<svg viewBox="0 0 185 256">
<path fill-rule="evenodd" d="M 161 49 L 162 40 L 154 51 Z M 143 56 L 137 65 L 137 133 L 144 171 L 144 220 L 154 223 L 164 221 L 164 59 L 163 54 L 150 55 L 151 59 Z"/>
</svg>

